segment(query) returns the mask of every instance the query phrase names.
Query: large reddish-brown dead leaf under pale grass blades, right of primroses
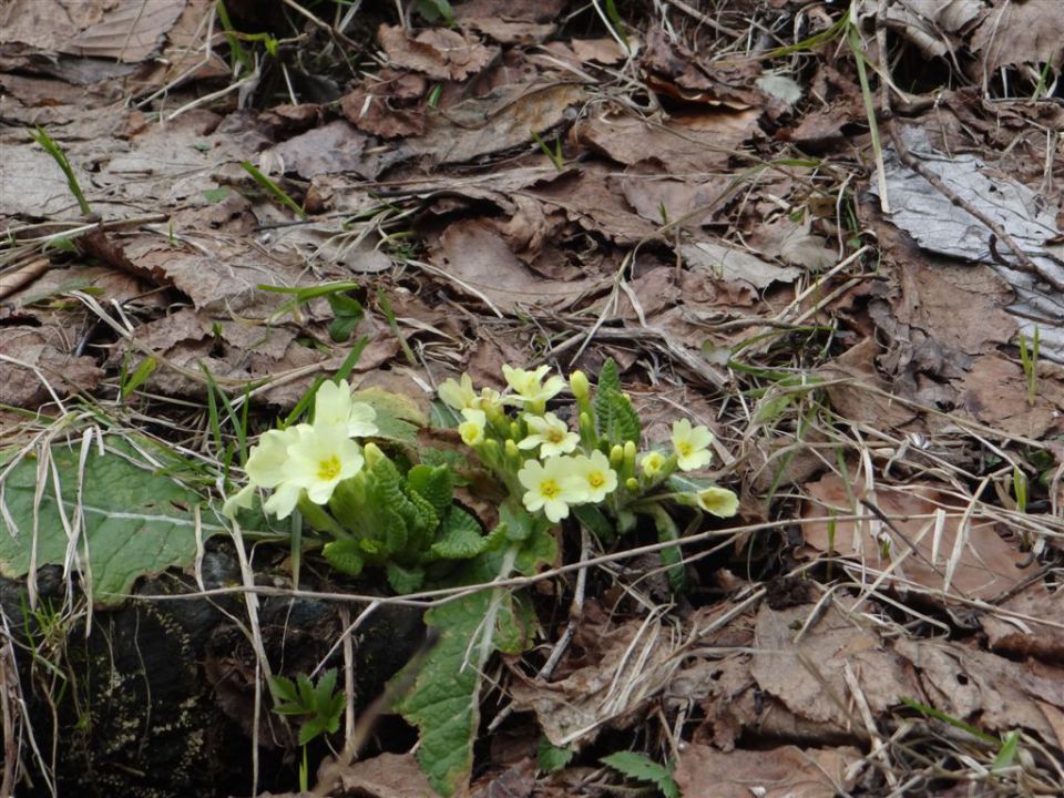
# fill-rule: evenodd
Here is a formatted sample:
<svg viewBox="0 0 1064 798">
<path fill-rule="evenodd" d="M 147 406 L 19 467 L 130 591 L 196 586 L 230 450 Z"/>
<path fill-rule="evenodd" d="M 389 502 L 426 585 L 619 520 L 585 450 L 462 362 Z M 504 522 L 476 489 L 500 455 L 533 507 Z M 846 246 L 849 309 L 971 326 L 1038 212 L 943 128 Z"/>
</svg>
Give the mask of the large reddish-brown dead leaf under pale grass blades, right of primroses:
<svg viewBox="0 0 1064 798">
<path fill-rule="evenodd" d="M 858 473 L 848 491 L 838 475 L 826 474 L 806 485 L 810 499 L 802 507 L 802 516 L 853 513 L 862 508 L 853 507 L 850 497 L 857 500 L 867 495 L 891 519 L 894 529 L 879 521 L 839 521 L 832 533 L 827 522 L 811 522 L 802 526 L 806 543 L 818 551 L 833 550 L 856 557 L 870 569 L 890 569 L 898 579 L 888 577 L 887 584 L 901 590 L 903 581 L 909 581 L 932 591 L 992 598 L 1024 579 L 1027 571 L 1017 567 L 1022 557 L 998 534 L 996 522 L 978 509 L 965 516 L 968 504 L 952 499 L 945 490 L 910 483 L 877 485 L 869 494 L 862 484 Z M 941 518 L 935 516 L 938 511 L 942 511 Z M 886 555 L 883 542 L 889 543 Z"/>
</svg>

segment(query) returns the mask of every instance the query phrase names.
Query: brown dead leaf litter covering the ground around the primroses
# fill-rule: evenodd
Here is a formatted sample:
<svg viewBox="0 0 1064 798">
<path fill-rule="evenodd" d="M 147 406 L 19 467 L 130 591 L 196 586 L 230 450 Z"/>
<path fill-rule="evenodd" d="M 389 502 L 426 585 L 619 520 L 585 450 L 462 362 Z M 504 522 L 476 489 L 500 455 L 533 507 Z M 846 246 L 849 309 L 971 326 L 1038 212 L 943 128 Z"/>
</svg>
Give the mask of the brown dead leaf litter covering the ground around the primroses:
<svg viewBox="0 0 1064 798">
<path fill-rule="evenodd" d="M 712 426 L 743 525 L 688 530 L 685 595 L 560 538 L 538 647 L 483 674 L 524 747 L 478 749 L 478 795 L 598 795 L 620 750 L 684 796 L 1064 789 L 1056 4 L 286 0 L 237 37 L 246 3 L 82 6 L 0 12 L 6 451 L 85 407 L 217 462 L 217 387 L 265 429 L 355 340 L 352 380 L 423 410 L 463 370 L 608 355 Z M 346 341 L 294 300 L 330 284 L 366 309 Z M 112 573 L 84 534 L 98 601 L 195 555 Z M 4 574 L 79 567 L 45 542 Z M 427 794 L 375 746 L 336 795 Z"/>
</svg>

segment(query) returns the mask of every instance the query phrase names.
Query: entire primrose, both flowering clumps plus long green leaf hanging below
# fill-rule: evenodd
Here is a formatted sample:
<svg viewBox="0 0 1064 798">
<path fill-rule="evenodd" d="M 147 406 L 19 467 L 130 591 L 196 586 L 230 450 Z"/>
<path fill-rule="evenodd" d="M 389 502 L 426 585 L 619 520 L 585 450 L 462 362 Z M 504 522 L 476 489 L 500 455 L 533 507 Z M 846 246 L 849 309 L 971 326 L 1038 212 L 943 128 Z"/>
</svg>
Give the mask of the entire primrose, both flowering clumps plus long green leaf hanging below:
<svg viewBox="0 0 1064 798">
<path fill-rule="evenodd" d="M 675 516 L 738 511 L 735 493 L 693 473 L 713 459 L 706 427 L 681 419 L 667 443 L 642 446 L 640 416 L 612 360 L 594 388 L 583 372 L 570 375 L 569 407 L 559 400 L 566 380 L 546 366 L 504 366 L 503 377 L 503 393 L 478 390 L 468 375 L 439 389 L 467 460 L 503 489 L 491 532 L 454 502 L 458 467 L 410 464 L 409 450 L 389 447 L 378 429 L 382 419 L 354 401 L 342 380 L 319 388 L 310 422 L 260 438 L 245 464 L 248 484 L 224 507 L 235 516 L 259 494 L 263 509 L 277 518 L 298 511 L 340 571 L 382 569 L 399 593 L 426 584 L 454 589 L 426 612 L 426 624 L 438 631 L 436 644 L 409 666 L 411 673 L 396 677 L 412 684 L 396 709 L 420 728 L 418 758 L 444 796 L 468 785 L 488 658 L 525 651 L 536 630 L 529 597 L 502 581 L 556 562 L 559 523 L 574 519 L 614 544 L 644 519 L 643 528 L 655 529 L 662 542 L 676 542 L 663 548 L 662 559 L 681 590 Z"/>
</svg>

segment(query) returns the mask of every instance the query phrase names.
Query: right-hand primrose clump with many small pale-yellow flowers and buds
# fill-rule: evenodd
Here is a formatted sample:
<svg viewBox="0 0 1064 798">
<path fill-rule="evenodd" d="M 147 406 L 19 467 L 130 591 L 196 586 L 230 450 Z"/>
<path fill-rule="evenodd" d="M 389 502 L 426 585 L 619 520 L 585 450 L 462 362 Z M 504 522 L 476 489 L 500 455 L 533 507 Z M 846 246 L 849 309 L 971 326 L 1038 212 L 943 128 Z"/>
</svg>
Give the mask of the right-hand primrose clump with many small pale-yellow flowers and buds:
<svg viewBox="0 0 1064 798">
<path fill-rule="evenodd" d="M 440 399 L 461 416 L 459 433 L 480 461 L 520 497 L 529 513 L 557 523 L 572 513 L 604 541 L 632 531 L 638 515 L 649 519 L 662 541 L 679 536 L 669 503 L 719 518 L 735 515 L 732 491 L 685 472 L 713 460 L 713 434 L 687 419 L 673 422 L 669 446 L 641 450 L 642 423 L 621 390 L 616 364 L 603 366 L 592 396 L 582 371 L 570 375 L 575 399 L 570 424 L 546 409 L 565 388 L 549 367 L 534 371 L 502 367 L 512 390 L 477 391 L 468 375 L 440 386 Z M 674 586 L 683 586 L 678 552 L 663 554 Z"/>
</svg>

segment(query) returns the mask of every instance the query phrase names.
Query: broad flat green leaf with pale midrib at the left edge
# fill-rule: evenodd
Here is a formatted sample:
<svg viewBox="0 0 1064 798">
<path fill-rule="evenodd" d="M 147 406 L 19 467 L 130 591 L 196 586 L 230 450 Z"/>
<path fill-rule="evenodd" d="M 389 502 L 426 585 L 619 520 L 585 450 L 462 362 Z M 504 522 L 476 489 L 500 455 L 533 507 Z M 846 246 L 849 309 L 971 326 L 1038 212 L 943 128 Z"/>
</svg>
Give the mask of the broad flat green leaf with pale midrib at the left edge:
<svg viewBox="0 0 1064 798">
<path fill-rule="evenodd" d="M 49 457 L 50 463 L 32 454 L 22 458 L 3 480 L 0 574 L 21 579 L 31 563 L 37 567 L 65 563 L 68 529 L 76 528 L 79 515 L 76 552 L 98 604 L 121 602 L 145 574 L 192 563 L 193 508 L 201 502 L 196 493 L 137 464 L 143 458 L 119 438 L 106 439 L 103 454 L 95 442 L 90 447 L 80 497 L 79 449 L 55 444 Z M 42 492 L 34 512 L 39 480 Z M 201 525 L 204 538 L 222 531 L 206 519 Z"/>
</svg>

